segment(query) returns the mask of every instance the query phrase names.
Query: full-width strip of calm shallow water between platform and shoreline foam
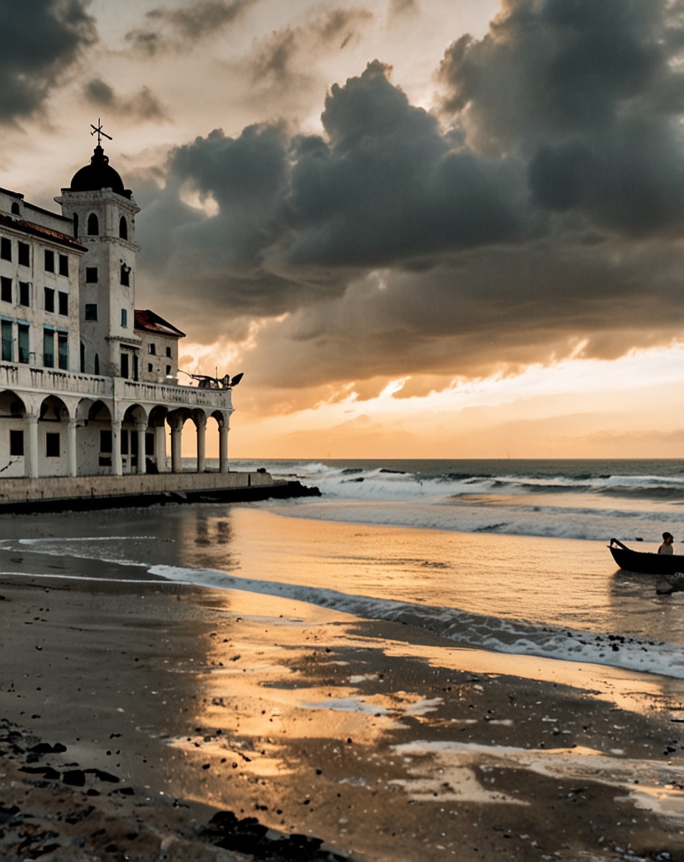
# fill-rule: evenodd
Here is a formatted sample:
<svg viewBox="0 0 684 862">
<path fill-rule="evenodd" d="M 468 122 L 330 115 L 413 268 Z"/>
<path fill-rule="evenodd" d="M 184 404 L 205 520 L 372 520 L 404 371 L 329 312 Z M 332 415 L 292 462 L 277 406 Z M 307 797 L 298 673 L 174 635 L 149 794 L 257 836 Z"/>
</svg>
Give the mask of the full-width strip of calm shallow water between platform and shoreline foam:
<svg viewBox="0 0 684 862">
<path fill-rule="evenodd" d="M 654 578 L 616 572 L 603 541 L 314 521 L 249 505 L 38 515 L 3 526 L 8 571 L 21 567 L 16 552 L 33 572 L 50 571 L 47 556 L 72 558 L 84 574 L 115 575 L 127 563 L 140 567 L 136 577 L 153 565 L 213 569 L 537 628 L 684 643 L 684 593 L 658 597 Z"/>
</svg>

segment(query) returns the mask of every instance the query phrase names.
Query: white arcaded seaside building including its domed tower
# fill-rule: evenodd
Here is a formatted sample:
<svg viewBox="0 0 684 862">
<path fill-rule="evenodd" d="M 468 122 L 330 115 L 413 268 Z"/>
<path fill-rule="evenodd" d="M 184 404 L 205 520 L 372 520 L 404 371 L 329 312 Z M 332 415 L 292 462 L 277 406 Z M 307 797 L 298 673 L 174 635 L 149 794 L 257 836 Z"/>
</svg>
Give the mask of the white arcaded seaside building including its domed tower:
<svg viewBox="0 0 684 862">
<path fill-rule="evenodd" d="M 181 472 L 188 419 L 227 472 L 231 390 L 179 385 L 183 333 L 135 309 L 140 209 L 99 144 L 55 201 L 0 189 L 0 478 Z"/>
</svg>

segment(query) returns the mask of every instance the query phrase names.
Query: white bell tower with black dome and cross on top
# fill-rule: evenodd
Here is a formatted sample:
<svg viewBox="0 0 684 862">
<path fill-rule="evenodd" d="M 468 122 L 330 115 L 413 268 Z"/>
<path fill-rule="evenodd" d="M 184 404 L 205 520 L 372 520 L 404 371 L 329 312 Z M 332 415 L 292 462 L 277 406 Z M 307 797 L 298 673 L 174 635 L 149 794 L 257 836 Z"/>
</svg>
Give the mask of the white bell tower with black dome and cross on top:
<svg viewBox="0 0 684 862">
<path fill-rule="evenodd" d="M 109 377 L 139 378 L 140 337 L 134 334 L 135 215 L 130 189 L 109 165 L 93 127 L 97 146 L 55 201 L 73 219 L 74 236 L 88 248 L 80 264 L 80 371 Z M 94 133 L 93 133 L 94 134 Z M 109 135 L 104 135 L 109 137 Z M 111 139 L 110 139 L 111 140 Z"/>
</svg>

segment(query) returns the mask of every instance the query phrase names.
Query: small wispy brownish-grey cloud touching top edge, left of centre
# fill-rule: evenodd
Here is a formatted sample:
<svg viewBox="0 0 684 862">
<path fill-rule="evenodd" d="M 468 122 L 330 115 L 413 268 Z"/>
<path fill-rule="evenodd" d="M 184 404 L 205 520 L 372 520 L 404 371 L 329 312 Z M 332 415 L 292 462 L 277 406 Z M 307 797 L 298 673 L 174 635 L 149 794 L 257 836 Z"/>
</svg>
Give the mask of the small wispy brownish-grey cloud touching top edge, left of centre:
<svg viewBox="0 0 684 862">
<path fill-rule="evenodd" d="M 134 50 L 149 56 L 160 51 L 182 51 L 221 32 L 237 21 L 257 0 L 202 0 L 169 9 L 160 6 L 146 13 L 148 26 L 126 34 Z"/>
</svg>

